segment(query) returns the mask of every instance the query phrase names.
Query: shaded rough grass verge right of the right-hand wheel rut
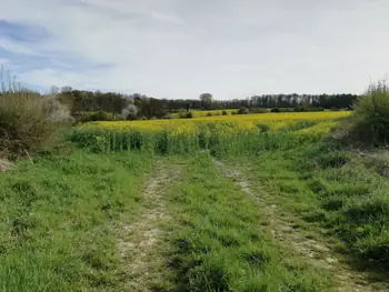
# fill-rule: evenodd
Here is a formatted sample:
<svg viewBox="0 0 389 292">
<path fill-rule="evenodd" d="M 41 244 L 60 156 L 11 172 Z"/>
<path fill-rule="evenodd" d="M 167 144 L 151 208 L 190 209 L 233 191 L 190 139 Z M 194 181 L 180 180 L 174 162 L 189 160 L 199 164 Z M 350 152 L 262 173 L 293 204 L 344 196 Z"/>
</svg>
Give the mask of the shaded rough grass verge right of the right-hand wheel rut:
<svg viewBox="0 0 389 292">
<path fill-rule="evenodd" d="M 325 140 L 272 147 L 239 160 L 250 182 L 265 184 L 285 208 L 331 231 L 363 265 L 389 265 L 385 160 Z"/>
</svg>

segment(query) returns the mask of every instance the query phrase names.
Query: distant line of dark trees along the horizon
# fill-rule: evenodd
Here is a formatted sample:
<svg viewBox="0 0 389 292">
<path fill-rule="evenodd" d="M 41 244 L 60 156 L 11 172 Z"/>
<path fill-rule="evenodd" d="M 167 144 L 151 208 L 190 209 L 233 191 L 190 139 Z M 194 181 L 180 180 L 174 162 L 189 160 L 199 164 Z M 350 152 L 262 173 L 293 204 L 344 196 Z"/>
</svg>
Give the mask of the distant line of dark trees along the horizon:
<svg viewBox="0 0 389 292">
<path fill-rule="evenodd" d="M 50 94 L 66 104 L 73 117 L 92 112 L 103 112 L 113 119 L 164 118 L 171 112 L 217 109 L 278 109 L 278 108 L 322 108 L 351 109 L 356 94 L 262 94 L 246 99 L 215 100 L 211 93 L 199 99 L 156 99 L 140 93 L 122 94 L 77 90 L 70 87 L 52 88 Z"/>
</svg>

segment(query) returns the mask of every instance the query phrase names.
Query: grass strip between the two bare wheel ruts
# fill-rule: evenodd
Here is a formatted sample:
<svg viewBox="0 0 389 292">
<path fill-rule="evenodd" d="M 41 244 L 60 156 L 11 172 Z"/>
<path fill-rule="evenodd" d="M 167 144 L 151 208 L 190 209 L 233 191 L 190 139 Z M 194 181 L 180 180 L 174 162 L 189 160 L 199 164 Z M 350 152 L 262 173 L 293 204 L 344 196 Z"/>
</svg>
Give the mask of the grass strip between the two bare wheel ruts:
<svg viewBox="0 0 389 292">
<path fill-rule="evenodd" d="M 260 230 L 261 212 L 208 155 L 188 161 L 170 190 L 173 251 L 179 291 L 329 291 L 325 272 L 296 258 L 283 259 Z"/>
</svg>

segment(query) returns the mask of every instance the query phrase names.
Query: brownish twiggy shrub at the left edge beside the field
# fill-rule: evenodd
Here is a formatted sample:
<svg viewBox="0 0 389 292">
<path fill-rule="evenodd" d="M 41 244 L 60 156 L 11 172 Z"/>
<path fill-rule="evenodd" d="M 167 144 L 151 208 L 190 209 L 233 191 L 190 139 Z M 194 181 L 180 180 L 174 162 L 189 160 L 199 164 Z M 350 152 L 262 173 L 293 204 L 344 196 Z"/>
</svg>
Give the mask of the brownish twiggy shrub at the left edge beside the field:
<svg viewBox="0 0 389 292">
<path fill-rule="evenodd" d="M 2 77 L 1 73 L 0 151 L 20 155 L 48 145 L 69 113 L 54 100 L 16 82 L 6 85 Z"/>
</svg>

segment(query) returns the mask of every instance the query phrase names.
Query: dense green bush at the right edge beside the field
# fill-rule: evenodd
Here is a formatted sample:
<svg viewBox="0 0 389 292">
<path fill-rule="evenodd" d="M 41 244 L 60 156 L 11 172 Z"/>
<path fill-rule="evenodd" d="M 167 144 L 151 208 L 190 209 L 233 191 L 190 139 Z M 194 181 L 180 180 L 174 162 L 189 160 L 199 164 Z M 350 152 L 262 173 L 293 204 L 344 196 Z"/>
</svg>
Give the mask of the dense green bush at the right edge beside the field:
<svg viewBox="0 0 389 292">
<path fill-rule="evenodd" d="M 389 87 L 386 81 L 371 84 L 361 95 L 349 119 L 349 138 L 368 145 L 389 143 Z"/>
</svg>

